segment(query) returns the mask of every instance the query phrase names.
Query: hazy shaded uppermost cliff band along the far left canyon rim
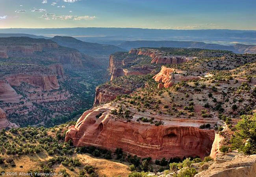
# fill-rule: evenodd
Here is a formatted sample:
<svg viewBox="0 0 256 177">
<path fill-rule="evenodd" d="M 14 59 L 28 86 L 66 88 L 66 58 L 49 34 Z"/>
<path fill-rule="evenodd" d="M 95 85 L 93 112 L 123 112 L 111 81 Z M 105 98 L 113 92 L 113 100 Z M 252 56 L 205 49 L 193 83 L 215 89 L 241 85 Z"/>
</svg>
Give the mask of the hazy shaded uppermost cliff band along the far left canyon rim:
<svg viewBox="0 0 256 177">
<path fill-rule="evenodd" d="M 29 37 L 9 37 L 0 39 L 0 58 L 36 57 L 62 64 L 82 65 L 82 55 L 78 50 L 59 46 L 46 39 Z"/>
</svg>

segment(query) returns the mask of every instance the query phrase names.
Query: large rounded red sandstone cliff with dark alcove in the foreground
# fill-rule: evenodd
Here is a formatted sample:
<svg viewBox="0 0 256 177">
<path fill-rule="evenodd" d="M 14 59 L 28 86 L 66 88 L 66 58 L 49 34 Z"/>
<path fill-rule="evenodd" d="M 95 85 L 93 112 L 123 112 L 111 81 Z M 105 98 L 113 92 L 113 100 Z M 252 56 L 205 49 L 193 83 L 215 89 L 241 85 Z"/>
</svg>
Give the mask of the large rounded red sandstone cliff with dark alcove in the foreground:
<svg viewBox="0 0 256 177">
<path fill-rule="evenodd" d="M 69 127 L 65 141 L 71 139 L 75 146 L 99 146 L 113 151 L 120 147 L 127 153 L 152 159 L 210 154 L 213 130 L 199 129 L 193 123 L 191 127 L 184 126 L 189 122 L 179 120 L 160 126 L 139 123 L 138 112 L 134 112 L 131 121 L 121 120 L 110 113 L 111 109 L 110 104 L 105 104 L 84 112 L 76 125 Z M 102 116 L 97 119 L 99 113 Z"/>
</svg>

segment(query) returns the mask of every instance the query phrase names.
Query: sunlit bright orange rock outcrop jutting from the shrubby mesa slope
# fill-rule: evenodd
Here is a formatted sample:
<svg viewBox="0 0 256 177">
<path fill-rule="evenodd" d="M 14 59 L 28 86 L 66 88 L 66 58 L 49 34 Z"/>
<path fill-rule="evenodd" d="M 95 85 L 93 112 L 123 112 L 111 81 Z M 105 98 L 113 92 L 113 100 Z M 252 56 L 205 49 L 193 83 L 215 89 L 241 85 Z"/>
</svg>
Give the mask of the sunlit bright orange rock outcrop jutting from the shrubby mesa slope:
<svg viewBox="0 0 256 177">
<path fill-rule="evenodd" d="M 184 76 L 185 72 L 181 70 L 176 70 L 174 68 L 167 68 L 162 66 L 161 71 L 156 74 L 153 78 L 156 82 L 164 84 L 165 88 L 173 86 L 175 81 L 189 81 L 189 80 L 198 80 L 199 76 Z"/>
</svg>

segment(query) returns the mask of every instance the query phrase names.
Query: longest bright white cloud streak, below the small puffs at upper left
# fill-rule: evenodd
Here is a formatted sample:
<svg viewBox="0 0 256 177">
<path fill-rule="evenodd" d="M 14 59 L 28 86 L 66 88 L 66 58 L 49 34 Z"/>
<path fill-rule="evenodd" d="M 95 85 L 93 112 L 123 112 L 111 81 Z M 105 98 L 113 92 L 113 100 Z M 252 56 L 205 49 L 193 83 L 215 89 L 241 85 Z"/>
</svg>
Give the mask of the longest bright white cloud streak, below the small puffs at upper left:
<svg viewBox="0 0 256 177">
<path fill-rule="evenodd" d="M 45 13 L 40 18 L 44 18 L 45 20 L 94 20 L 95 16 L 73 16 L 73 15 L 55 15 L 54 13 Z"/>
</svg>

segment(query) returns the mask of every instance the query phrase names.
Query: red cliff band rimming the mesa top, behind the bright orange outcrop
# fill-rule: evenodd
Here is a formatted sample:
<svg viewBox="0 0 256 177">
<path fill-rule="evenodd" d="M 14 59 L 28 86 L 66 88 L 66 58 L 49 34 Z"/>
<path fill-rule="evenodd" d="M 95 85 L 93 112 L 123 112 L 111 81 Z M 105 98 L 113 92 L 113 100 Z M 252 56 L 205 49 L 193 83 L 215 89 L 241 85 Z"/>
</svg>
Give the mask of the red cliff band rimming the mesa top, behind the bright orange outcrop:
<svg viewBox="0 0 256 177">
<path fill-rule="evenodd" d="M 151 63 L 156 64 L 177 64 L 192 60 L 194 57 L 170 56 L 164 52 L 154 49 L 132 49 L 131 54 L 144 55 L 152 58 Z"/>
</svg>

